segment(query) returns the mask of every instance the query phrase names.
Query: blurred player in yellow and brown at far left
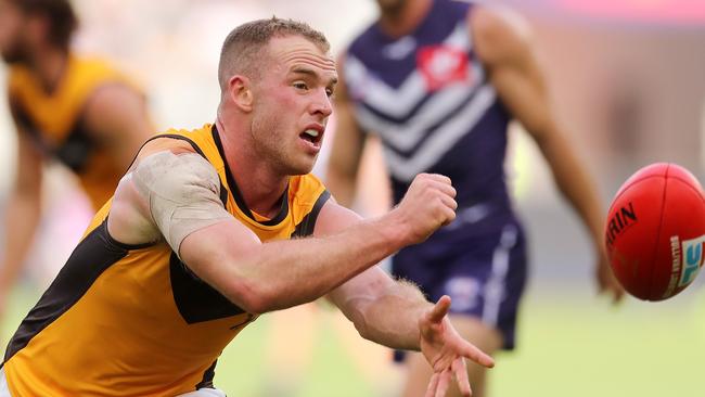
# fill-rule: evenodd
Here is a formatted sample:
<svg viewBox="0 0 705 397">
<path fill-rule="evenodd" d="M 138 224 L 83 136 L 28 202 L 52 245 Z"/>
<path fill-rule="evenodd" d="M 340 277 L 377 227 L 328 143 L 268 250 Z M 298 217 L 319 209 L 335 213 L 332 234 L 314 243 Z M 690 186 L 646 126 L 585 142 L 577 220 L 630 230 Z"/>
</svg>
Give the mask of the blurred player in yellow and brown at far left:
<svg viewBox="0 0 705 397">
<path fill-rule="evenodd" d="M 142 92 L 106 62 L 70 50 L 77 24 L 67 0 L 0 0 L 0 51 L 17 131 L 0 255 L 0 319 L 41 217 L 44 162 L 57 159 L 73 170 L 97 210 L 152 133 Z"/>
</svg>

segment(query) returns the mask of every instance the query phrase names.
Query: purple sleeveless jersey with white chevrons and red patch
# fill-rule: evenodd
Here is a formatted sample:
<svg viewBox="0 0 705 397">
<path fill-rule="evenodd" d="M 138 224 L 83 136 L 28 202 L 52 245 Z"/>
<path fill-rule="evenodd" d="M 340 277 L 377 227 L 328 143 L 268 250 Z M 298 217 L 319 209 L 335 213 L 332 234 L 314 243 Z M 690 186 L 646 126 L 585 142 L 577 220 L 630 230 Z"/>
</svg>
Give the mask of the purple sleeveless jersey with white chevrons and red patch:
<svg viewBox="0 0 705 397">
<path fill-rule="evenodd" d="M 452 179 L 461 208 L 491 203 L 496 214 L 510 212 L 510 116 L 473 50 L 471 7 L 436 0 L 400 38 L 375 23 L 343 61 L 358 123 L 383 142 L 395 203 L 416 174 L 437 172 Z"/>
</svg>

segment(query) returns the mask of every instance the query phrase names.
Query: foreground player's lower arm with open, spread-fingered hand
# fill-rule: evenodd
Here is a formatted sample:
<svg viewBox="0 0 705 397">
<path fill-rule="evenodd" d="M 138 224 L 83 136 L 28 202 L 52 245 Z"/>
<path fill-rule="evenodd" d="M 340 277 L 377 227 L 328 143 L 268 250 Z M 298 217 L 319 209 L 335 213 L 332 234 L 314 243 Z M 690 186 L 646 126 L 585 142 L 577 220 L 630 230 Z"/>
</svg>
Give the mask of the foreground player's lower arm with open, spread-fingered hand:
<svg viewBox="0 0 705 397">
<path fill-rule="evenodd" d="M 352 212 L 333 204 L 328 214 L 336 222 L 317 225 L 316 234 L 337 232 L 339 225 L 361 222 Z M 343 313 L 369 341 L 398 349 L 421 350 L 434 369 L 428 395 L 445 396 L 454 374 L 459 388 L 470 396 L 470 383 L 463 358 L 492 367 L 493 360 L 464 341 L 446 317 L 450 298 L 428 303 L 416 286 L 394 281 L 374 266 L 329 294 Z"/>
</svg>

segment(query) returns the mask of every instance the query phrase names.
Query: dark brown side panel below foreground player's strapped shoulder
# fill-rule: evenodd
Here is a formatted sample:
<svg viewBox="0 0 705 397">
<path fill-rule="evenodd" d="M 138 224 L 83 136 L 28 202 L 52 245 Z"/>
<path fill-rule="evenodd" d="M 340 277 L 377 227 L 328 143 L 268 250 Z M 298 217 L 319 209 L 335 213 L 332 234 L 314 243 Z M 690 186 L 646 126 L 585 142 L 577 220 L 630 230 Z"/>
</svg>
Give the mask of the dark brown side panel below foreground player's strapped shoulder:
<svg viewBox="0 0 705 397">
<path fill-rule="evenodd" d="M 4 362 L 23 349 L 33 337 L 70 309 L 93 282 L 130 249 L 152 244 L 128 245 L 107 233 L 107 221 L 93 229 L 74 249 L 47 292 L 22 320 L 5 350 Z M 3 362 L 3 364 L 4 364 Z"/>
</svg>

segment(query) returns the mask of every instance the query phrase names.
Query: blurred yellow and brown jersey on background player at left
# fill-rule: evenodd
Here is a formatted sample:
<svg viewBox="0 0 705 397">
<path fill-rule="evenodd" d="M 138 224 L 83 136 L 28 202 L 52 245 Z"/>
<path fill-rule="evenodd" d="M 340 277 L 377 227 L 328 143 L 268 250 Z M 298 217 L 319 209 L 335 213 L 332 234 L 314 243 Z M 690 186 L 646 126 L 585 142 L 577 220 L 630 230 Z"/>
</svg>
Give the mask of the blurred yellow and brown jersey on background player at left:
<svg viewBox="0 0 705 397">
<path fill-rule="evenodd" d="M 79 178 L 93 208 L 113 195 L 125 169 L 84 125 L 84 111 L 93 93 L 108 85 L 133 87 L 105 62 L 68 56 L 66 71 L 52 92 L 23 66 L 10 69 L 9 102 L 15 123 L 47 156 L 57 158 Z"/>
</svg>

